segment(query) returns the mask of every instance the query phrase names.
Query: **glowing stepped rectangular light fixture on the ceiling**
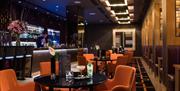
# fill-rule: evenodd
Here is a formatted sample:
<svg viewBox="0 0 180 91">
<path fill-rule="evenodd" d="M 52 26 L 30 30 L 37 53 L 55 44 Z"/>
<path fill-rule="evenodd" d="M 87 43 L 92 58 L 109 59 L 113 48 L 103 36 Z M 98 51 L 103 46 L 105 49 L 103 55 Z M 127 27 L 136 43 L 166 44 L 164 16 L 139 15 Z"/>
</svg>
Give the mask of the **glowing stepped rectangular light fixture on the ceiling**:
<svg viewBox="0 0 180 91">
<path fill-rule="evenodd" d="M 127 0 L 113 1 L 100 0 L 106 6 L 106 10 L 111 13 L 111 17 L 119 24 L 130 24 L 133 21 L 134 14 L 129 10 L 134 10 L 134 6 L 128 6 Z"/>
</svg>

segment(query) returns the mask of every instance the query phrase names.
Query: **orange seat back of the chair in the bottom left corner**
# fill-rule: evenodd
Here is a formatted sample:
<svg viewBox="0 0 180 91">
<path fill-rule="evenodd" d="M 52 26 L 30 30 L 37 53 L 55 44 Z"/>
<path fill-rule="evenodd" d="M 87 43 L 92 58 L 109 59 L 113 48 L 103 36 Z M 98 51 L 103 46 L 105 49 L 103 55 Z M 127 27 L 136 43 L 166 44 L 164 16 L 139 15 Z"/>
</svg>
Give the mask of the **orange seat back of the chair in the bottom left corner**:
<svg viewBox="0 0 180 91">
<path fill-rule="evenodd" d="M 13 69 L 0 71 L 0 91 L 16 91 L 17 86 L 17 78 Z"/>
</svg>

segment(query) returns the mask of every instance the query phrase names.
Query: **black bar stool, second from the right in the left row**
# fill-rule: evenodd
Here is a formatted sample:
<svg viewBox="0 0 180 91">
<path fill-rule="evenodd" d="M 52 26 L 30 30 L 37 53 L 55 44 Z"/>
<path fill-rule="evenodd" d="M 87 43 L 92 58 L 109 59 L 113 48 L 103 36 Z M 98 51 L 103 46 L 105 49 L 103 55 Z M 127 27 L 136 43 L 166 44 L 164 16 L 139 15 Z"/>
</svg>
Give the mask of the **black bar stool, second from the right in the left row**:
<svg viewBox="0 0 180 91">
<path fill-rule="evenodd" d="M 25 50 L 25 46 L 16 46 L 15 47 L 15 67 L 16 67 L 16 74 L 17 74 L 17 78 L 19 80 L 24 80 L 24 71 L 25 71 L 25 54 L 26 54 L 26 50 Z"/>
</svg>

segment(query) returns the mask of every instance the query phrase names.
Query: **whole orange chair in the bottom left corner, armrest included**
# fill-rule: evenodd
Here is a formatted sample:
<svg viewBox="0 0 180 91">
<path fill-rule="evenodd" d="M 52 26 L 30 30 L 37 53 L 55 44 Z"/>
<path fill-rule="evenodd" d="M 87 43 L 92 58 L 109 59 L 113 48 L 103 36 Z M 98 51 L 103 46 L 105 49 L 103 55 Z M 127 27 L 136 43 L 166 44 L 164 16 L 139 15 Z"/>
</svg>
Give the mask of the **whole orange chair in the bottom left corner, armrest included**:
<svg viewBox="0 0 180 91">
<path fill-rule="evenodd" d="M 0 71 L 0 91 L 36 91 L 35 83 L 20 84 L 13 69 Z"/>
</svg>

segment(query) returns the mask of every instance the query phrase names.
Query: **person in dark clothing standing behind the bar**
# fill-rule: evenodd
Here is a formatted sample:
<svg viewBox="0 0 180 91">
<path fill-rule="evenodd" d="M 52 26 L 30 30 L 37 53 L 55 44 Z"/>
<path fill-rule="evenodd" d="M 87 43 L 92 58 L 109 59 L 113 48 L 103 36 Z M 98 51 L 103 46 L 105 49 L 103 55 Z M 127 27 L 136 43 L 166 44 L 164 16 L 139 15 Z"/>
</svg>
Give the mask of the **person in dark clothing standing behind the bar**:
<svg viewBox="0 0 180 91">
<path fill-rule="evenodd" d="M 47 47 L 48 46 L 48 32 L 43 31 L 42 35 L 37 39 L 37 47 Z"/>
</svg>

